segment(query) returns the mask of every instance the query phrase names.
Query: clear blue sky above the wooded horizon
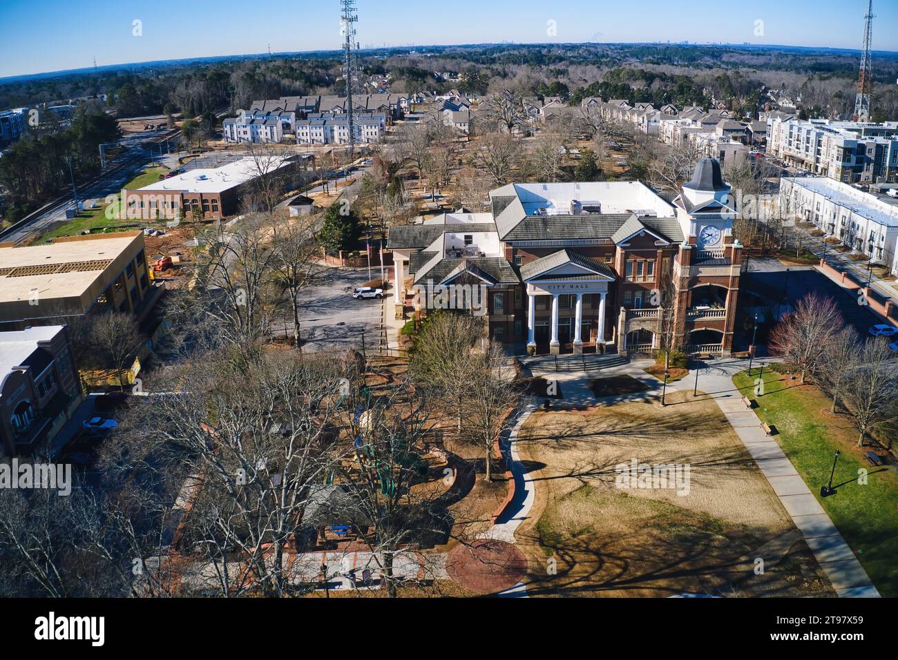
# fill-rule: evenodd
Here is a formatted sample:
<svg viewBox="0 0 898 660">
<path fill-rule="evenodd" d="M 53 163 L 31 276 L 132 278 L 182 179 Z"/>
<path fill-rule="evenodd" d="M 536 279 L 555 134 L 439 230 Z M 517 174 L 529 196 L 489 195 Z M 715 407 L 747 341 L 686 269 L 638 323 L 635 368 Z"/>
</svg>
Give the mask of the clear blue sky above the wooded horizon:
<svg viewBox="0 0 898 660">
<path fill-rule="evenodd" d="M 362 46 L 697 41 L 860 48 L 866 0 L 357 0 Z M 250 12 L 261 7 L 265 13 Z M 873 46 L 898 50 L 898 0 Z M 339 48 L 339 0 L 0 0 L 0 77 L 180 57 Z M 139 30 L 134 27 L 139 21 Z M 554 23 L 551 23 L 554 22 Z M 552 30 L 554 25 L 554 30 Z M 756 34 L 762 28 L 762 34 Z M 142 32 L 136 36 L 135 32 Z"/>
</svg>

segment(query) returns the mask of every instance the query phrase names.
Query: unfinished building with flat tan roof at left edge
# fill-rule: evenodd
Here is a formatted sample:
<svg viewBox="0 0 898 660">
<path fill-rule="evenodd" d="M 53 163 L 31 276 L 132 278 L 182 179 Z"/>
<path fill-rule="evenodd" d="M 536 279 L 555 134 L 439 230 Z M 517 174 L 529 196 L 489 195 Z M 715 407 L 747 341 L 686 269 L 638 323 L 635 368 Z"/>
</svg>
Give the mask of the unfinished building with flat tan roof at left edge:
<svg viewBox="0 0 898 660">
<path fill-rule="evenodd" d="M 144 233 L 101 233 L 14 247 L 0 243 L 0 330 L 57 323 L 89 312 L 133 312 L 161 294 L 146 263 Z"/>
</svg>

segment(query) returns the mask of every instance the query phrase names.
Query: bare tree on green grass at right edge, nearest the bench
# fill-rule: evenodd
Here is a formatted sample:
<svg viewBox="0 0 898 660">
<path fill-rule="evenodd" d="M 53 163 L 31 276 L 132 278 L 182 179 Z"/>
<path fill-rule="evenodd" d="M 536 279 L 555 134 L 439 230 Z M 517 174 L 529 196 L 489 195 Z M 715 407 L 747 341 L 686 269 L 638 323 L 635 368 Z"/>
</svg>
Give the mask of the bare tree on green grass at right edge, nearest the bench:
<svg viewBox="0 0 898 660">
<path fill-rule="evenodd" d="M 867 339 L 849 373 L 843 398 L 858 429 L 858 447 L 876 428 L 898 419 L 898 358 L 888 340 Z"/>
</svg>

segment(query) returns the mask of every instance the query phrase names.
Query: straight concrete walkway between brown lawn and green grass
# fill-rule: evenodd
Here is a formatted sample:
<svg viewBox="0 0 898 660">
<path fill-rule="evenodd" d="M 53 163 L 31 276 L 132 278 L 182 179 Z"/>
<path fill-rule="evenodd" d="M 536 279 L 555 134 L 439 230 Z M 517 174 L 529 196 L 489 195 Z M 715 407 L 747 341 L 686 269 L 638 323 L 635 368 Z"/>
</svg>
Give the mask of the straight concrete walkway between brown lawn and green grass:
<svg viewBox="0 0 898 660">
<path fill-rule="evenodd" d="M 755 365 L 761 365 L 756 360 Z M 699 374 L 699 389 L 717 401 L 718 408 L 752 454 L 758 468 L 770 482 L 793 523 L 805 537 L 817 563 L 830 578 L 840 597 L 878 598 L 876 586 L 867 576 L 848 543 L 826 515 L 810 488 L 788 460 L 773 437 L 764 434 L 754 409 L 746 409 L 742 395 L 733 384 L 733 375 L 743 371 L 744 360 L 718 360 Z M 691 372 L 694 377 L 695 372 Z M 683 379 L 689 380 L 689 378 Z"/>
</svg>

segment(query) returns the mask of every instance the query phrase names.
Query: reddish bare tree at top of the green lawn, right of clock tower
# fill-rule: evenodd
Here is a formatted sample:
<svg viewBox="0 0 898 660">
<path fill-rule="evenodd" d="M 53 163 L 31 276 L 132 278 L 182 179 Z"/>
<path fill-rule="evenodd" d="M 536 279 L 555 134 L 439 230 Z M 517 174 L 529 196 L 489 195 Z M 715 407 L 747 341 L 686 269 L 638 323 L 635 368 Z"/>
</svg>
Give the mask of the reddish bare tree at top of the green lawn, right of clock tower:
<svg viewBox="0 0 898 660">
<path fill-rule="evenodd" d="M 809 294 L 798 301 L 795 312 L 784 316 L 770 332 L 770 351 L 796 365 L 805 375 L 815 374 L 826 354 L 826 346 L 844 325 L 832 298 Z"/>
</svg>

